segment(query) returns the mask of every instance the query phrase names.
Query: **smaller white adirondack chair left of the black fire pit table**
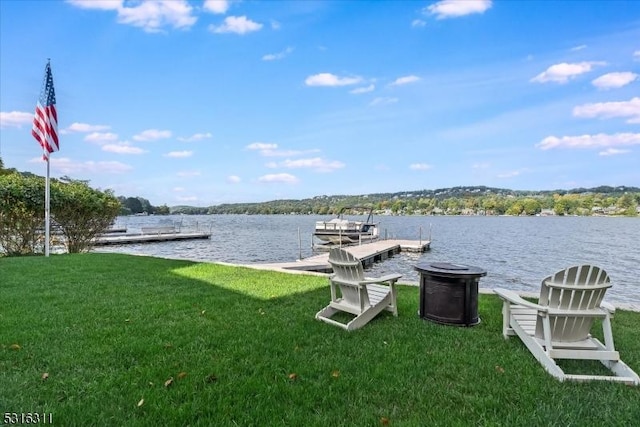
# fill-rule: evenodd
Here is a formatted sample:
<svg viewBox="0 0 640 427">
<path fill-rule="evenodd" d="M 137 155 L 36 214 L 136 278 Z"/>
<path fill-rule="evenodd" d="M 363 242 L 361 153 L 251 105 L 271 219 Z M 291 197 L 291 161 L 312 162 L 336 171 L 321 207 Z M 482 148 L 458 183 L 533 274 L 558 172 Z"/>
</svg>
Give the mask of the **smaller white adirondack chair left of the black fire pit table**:
<svg viewBox="0 0 640 427">
<path fill-rule="evenodd" d="M 401 274 L 365 278 L 360 260 L 339 248 L 331 249 L 329 263 L 333 267 L 329 277 L 331 302 L 316 314 L 316 319 L 352 331 L 363 327 L 384 310 L 398 315 L 394 285 Z M 347 323 L 331 318 L 341 311 L 355 317 Z"/>
</svg>

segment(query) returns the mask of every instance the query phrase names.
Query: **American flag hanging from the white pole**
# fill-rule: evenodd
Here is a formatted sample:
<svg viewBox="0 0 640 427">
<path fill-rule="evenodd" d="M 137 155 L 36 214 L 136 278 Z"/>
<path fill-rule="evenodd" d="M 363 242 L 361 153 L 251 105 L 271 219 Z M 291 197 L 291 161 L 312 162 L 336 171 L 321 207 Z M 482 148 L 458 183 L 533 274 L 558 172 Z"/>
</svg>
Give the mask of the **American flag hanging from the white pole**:
<svg viewBox="0 0 640 427">
<path fill-rule="evenodd" d="M 58 151 L 58 114 L 56 113 L 56 92 L 53 89 L 53 75 L 51 65 L 47 62 L 44 82 L 40 91 L 40 99 L 36 106 L 31 134 L 40 143 L 44 160 L 49 160 L 49 154 Z"/>
</svg>

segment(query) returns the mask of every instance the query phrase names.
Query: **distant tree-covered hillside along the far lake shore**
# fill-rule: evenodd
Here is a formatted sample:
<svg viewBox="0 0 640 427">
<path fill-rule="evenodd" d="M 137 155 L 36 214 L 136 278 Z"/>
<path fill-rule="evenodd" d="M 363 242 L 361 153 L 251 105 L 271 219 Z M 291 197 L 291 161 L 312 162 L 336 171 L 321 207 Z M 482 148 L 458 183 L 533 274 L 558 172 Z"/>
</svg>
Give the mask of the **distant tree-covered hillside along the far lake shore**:
<svg viewBox="0 0 640 427">
<path fill-rule="evenodd" d="M 637 216 L 640 189 L 596 187 L 545 192 L 487 187 L 318 196 L 303 200 L 233 203 L 210 207 L 177 206 L 183 214 L 315 214 L 335 215 L 344 206 L 372 207 L 392 215 L 626 215 Z"/>
</svg>

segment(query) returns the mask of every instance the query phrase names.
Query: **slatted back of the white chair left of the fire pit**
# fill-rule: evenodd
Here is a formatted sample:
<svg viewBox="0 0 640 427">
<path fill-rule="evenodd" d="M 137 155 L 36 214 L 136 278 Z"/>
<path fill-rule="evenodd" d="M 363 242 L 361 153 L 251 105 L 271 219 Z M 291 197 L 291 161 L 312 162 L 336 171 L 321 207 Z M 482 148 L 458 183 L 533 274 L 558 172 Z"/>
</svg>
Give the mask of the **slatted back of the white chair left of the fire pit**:
<svg viewBox="0 0 640 427">
<path fill-rule="evenodd" d="M 333 274 L 329 280 L 340 283 L 353 283 L 364 280 L 364 269 L 358 258 L 340 248 L 329 251 L 329 264 L 333 268 Z M 359 305 L 361 309 L 368 307 L 369 296 L 366 289 L 354 286 L 340 286 L 342 298 L 352 304 Z"/>
</svg>

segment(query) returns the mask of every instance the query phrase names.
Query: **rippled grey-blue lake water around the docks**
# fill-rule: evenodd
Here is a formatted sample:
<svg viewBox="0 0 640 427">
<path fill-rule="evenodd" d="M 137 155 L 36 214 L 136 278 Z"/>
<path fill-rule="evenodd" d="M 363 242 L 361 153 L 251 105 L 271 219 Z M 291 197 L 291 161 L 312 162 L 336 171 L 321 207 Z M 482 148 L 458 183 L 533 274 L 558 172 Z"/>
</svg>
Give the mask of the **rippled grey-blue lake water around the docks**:
<svg viewBox="0 0 640 427">
<path fill-rule="evenodd" d="M 182 215 L 118 217 L 116 226 L 139 232 L 145 225 L 178 225 L 183 231 L 210 231 L 210 240 L 105 246 L 115 251 L 229 263 L 290 262 L 313 255 L 317 215 Z M 537 293 L 540 281 L 575 264 L 604 268 L 613 287 L 606 299 L 640 309 L 640 218 L 379 216 L 384 238 L 428 239 L 431 250 L 401 253 L 370 268 L 374 276 L 400 272 L 418 282 L 418 262 L 453 262 L 482 267 L 483 288 Z"/>
</svg>

